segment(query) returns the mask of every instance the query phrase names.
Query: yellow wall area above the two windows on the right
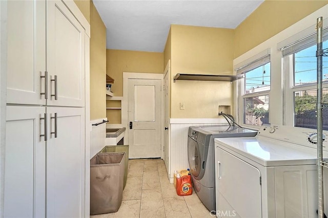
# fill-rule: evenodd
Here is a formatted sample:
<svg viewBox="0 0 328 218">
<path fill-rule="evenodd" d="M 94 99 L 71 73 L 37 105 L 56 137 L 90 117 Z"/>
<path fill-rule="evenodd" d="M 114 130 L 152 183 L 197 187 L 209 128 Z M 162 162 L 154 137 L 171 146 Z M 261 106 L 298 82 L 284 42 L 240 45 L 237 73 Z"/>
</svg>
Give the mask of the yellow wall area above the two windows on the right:
<svg viewBox="0 0 328 218">
<path fill-rule="evenodd" d="M 264 1 L 235 29 L 234 57 L 249 51 L 327 3 L 325 0 Z"/>
</svg>

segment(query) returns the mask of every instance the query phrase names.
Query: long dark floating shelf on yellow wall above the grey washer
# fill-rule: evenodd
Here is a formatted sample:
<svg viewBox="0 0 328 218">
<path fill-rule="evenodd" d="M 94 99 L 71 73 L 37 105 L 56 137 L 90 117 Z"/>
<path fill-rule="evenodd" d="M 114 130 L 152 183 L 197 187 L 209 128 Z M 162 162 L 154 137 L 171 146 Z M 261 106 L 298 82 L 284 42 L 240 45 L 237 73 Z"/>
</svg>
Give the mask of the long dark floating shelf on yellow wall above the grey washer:
<svg viewBox="0 0 328 218">
<path fill-rule="evenodd" d="M 243 78 L 243 76 L 230 75 L 206 75 L 206 74 L 176 74 L 173 82 L 176 80 L 199 80 L 199 81 L 226 81 L 232 82 Z"/>
</svg>

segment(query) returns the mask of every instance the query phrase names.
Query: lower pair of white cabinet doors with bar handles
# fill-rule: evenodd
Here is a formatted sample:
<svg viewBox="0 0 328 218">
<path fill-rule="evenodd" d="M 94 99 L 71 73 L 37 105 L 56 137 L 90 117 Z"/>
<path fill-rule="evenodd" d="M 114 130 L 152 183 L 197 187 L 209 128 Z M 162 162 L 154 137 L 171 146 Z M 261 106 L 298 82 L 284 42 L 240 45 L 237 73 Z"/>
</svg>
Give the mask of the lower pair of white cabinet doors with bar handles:
<svg viewBox="0 0 328 218">
<path fill-rule="evenodd" d="M 4 217 L 85 216 L 84 114 L 7 106 Z"/>
</svg>

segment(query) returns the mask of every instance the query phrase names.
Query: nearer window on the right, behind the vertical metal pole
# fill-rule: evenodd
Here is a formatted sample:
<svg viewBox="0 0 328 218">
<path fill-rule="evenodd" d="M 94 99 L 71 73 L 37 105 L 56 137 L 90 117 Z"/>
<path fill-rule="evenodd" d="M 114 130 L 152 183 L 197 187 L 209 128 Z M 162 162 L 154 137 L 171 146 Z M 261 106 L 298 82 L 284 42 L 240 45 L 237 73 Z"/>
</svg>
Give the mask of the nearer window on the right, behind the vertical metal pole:
<svg viewBox="0 0 328 218">
<path fill-rule="evenodd" d="M 317 128 L 317 44 L 314 37 L 304 38 L 282 50 L 285 75 L 285 125 Z M 328 47 L 327 40 L 323 42 L 322 47 L 323 49 Z M 322 82 L 322 100 L 323 103 L 328 103 L 328 57 L 325 56 L 322 58 Z M 326 107 L 323 108 L 322 115 L 323 129 L 328 130 Z"/>
</svg>

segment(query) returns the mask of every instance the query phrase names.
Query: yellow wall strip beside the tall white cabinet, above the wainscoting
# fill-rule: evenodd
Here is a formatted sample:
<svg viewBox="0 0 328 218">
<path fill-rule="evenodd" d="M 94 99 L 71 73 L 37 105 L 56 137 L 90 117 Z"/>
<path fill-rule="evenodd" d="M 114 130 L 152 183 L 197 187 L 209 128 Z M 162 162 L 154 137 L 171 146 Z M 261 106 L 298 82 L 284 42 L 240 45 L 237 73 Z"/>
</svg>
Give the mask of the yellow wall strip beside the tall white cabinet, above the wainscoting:
<svg viewBox="0 0 328 218">
<path fill-rule="evenodd" d="M 106 117 L 106 27 L 90 2 L 90 119 Z"/>
</svg>

